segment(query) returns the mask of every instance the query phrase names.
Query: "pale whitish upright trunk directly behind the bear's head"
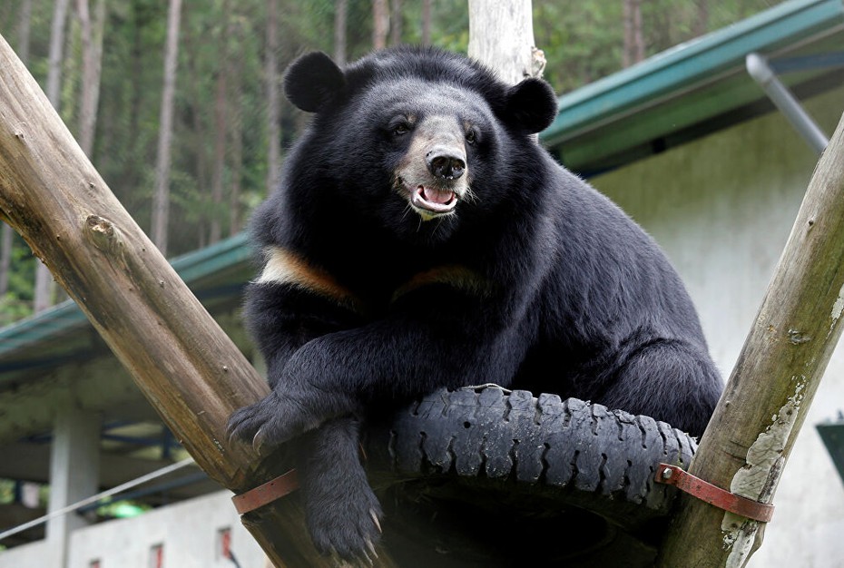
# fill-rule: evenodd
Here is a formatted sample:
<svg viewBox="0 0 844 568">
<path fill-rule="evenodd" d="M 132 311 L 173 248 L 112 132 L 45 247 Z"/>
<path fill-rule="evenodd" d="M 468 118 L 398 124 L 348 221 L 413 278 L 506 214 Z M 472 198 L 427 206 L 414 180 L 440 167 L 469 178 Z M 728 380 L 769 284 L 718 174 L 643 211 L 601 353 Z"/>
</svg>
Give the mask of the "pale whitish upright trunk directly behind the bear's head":
<svg viewBox="0 0 844 568">
<path fill-rule="evenodd" d="M 469 0 L 469 56 L 506 83 L 542 76 L 545 55 L 535 48 L 530 0 Z"/>
</svg>

